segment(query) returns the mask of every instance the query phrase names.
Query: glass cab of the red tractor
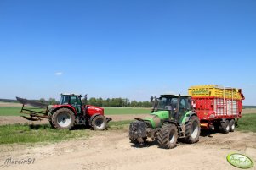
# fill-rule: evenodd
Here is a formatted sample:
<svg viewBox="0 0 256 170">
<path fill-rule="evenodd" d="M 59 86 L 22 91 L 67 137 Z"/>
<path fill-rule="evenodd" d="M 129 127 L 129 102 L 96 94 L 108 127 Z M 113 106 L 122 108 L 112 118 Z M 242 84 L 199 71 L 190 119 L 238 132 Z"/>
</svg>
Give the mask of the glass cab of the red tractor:
<svg viewBox="0 0 256 170">
<path fill-rule="evenodd" d="M 82 100 L 81 95 L 76 94 L 60 94 L 60 105 L 71 105 L 76 109 L 77 114 L 82 113 Z M 86 97 L 86 96 L 85 96 Z"/>
</svg>

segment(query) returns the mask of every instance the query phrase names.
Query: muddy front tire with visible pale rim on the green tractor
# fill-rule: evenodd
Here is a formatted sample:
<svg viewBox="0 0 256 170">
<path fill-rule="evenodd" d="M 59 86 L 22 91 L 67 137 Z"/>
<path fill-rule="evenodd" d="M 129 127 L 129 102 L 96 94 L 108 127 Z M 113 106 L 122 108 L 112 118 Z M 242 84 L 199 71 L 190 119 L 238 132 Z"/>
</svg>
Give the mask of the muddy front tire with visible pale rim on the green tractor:
<svg viewBox="0 0 256 170">
<path fill-rule="evenodd" d="M 163 149 L 172 149 L 176 147 L 178 139 L 178 129 L 175 124 L 164 124 L 157 136 L 157 142 Z"/>
</svg>

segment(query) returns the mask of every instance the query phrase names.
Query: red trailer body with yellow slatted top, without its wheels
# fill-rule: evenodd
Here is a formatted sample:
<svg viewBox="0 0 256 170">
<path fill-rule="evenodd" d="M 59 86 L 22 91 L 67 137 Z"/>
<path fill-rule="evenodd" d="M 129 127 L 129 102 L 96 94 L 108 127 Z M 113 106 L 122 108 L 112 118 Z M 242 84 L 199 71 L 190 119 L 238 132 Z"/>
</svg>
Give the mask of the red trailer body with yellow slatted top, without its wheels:
<svg viewBox="0 0 256 170">
<path fill-rule="evenodd" d="M 218 85 L 196 85 L 189 89 L 192 106 L 202 129 L 214 129 L 216 124 L 226 120 L 237 121 L 242 118 L 242 97 L 238 91 Z"/>
</svg>

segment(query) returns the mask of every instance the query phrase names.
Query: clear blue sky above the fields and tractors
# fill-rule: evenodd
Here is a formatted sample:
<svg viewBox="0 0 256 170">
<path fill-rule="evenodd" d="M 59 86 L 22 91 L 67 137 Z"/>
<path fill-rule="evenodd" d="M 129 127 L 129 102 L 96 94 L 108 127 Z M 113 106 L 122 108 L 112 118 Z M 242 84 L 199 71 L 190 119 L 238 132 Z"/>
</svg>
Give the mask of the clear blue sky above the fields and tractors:
<svg viewBox="0 0 256 170">
<path fill-rule="evenodd" d="M 0 1 L 0 98 L 149 101 L 191 85 L 256 105 L 256 1 Z"/>
</svg>

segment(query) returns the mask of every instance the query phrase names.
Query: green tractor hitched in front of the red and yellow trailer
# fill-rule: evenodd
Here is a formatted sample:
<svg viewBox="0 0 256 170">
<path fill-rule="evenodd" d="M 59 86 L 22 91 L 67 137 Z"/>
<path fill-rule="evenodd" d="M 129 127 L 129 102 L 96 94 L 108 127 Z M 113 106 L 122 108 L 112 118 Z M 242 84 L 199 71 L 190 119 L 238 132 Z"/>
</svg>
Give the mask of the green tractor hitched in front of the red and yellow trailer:
<svg viewBox="0 0 256 170">
<path fill-rule="evenodd" d="M 161 148 L 171 149 L 178 138 L 188 144 L 199 141 L 200 121 L 191 106 L 190 96 L 161 95 L 151 97 L 151 115 L 130 123 L 129 139 L 134 144 L 145 143 L 147 138 L 157 140 Z"/>
</svg>

